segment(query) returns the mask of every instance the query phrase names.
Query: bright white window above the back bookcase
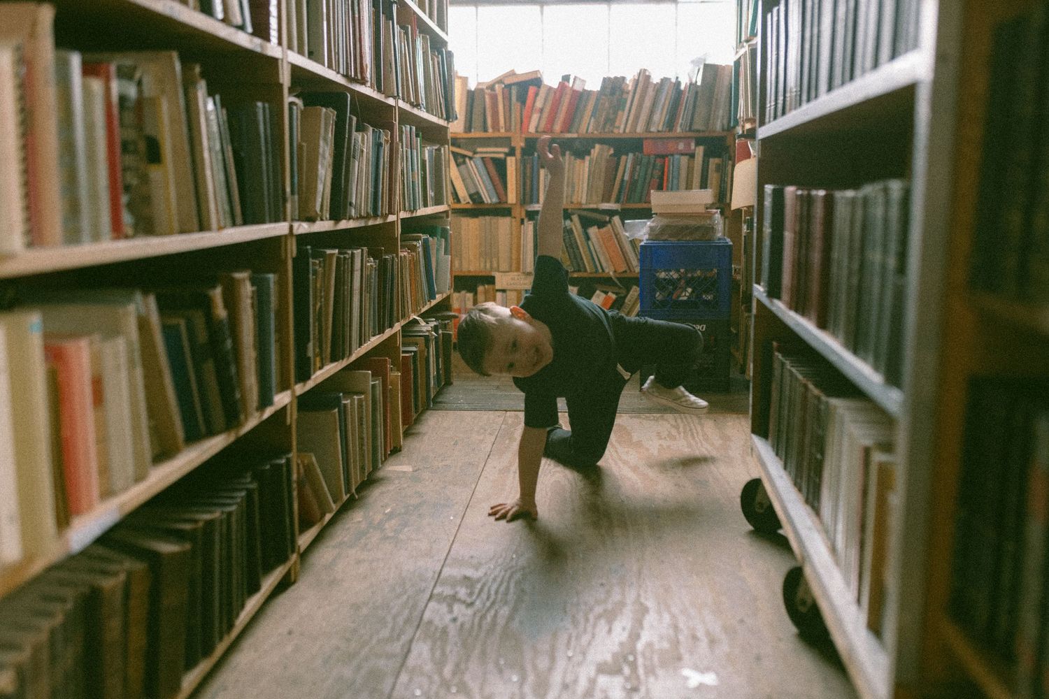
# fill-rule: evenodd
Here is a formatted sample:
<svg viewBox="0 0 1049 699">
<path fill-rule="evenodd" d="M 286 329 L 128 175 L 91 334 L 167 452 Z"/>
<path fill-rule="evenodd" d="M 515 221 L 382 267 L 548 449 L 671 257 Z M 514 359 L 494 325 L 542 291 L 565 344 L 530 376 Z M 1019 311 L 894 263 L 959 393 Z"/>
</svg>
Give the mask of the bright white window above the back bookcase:
<svg viewBox="0 0 1049 699">
<path fill-rule="evenodd" d="M 450 7 L 455 68 L 471 84 L 513 68 L 564 73 L 596 89 L 605 75 L 685 80 L 698 59 L 731 63 L 732 0 L 588 4 L 455 4 Z"/>
</svg>

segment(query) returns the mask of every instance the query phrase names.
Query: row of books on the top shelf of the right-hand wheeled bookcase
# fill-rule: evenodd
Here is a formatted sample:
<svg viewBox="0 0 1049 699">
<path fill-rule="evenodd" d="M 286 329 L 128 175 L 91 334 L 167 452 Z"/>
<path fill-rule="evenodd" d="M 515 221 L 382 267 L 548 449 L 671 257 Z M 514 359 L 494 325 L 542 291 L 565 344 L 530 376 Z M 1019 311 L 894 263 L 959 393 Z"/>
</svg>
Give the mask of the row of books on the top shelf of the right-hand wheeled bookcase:
<svg viewBox="0 0 1049 699">
<path fill-rule="evenodd" d="M 918 0 L 785 0 L 765 15 L 765 121 L 918 46 Z"/>
</svg>

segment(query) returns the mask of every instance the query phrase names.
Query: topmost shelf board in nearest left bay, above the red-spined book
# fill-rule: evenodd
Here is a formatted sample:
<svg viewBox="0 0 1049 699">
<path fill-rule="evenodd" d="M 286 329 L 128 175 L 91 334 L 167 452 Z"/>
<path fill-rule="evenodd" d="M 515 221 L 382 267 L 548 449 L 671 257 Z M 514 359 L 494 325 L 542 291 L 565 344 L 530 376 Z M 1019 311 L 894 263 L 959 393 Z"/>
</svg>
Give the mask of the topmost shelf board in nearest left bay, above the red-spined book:
<svg viewBox="0 0 1049 699">
<path fill-rule="evenodd" d="M 175 0 L 58 0 L 62 14 L 91 18 L 113 12 L 122 13 L 128 26 L 154 36 L 177 37 L 180 46 L 187 43 L 209 50 L 248 50 L 272 59 L 280 59 L 283 48 L 248 34 L 202 12 L 191 9 Z"/>
</svg>

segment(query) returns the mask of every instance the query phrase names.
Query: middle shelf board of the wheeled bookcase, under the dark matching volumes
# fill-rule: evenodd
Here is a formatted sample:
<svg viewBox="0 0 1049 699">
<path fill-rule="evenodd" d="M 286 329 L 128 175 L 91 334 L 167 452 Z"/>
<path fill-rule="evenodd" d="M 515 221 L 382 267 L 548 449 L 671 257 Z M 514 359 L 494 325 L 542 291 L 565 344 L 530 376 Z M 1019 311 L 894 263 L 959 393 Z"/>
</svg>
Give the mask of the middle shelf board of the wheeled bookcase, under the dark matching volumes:
<svg viewBox="0 0 1049 699">
<path fill-rule="evenodd" d="M 817 328 L 808 319 L 787 308 L 778 299 L 770 299 L 759 285 L 754 285 L 754 298 L 783 321 L 787 327 L 833 364 L 838 371 L 856 385 L 864 394 L 896 419 L 903 416 L 903 391 L 885 384 L 881 374 L 865 362 L 847 350 L 836 337 Z"/>
</svg>

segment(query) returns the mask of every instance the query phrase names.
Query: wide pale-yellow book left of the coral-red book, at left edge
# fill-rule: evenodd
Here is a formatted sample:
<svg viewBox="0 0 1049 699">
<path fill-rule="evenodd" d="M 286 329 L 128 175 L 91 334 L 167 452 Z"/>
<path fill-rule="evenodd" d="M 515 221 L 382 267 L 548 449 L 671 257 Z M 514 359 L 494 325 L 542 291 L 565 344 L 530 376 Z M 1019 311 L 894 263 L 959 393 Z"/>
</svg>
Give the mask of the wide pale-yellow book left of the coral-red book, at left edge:
<svg viewBox="0 0 1049 699">
<path fill-rule="evenodd" d="M 12 413 L 12 427 L 22 548 L 28 556 L 41 556 L 58 541 L 43 323 L 36 311 L 12 310 L 0 313 L 0 324 L 5 329 L 3 349 L 13 368 L 7 378 L 9 393 L 3 393 L 18 406 Z"/>
</svg>

